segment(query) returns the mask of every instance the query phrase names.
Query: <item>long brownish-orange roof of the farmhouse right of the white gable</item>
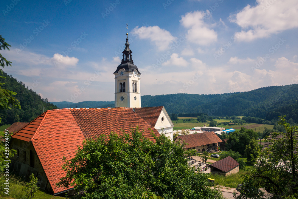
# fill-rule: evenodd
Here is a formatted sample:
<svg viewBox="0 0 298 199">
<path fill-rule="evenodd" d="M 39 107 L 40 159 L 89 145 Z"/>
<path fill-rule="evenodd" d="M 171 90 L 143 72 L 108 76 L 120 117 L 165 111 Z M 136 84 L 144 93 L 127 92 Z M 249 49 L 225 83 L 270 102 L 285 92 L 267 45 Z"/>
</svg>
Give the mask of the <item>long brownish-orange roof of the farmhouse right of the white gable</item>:
<svg viewBox="0 0 298 199">
<path fill-rule="evenodd" d="M 186 148 L 221 142 L 221 139 L 215 134 L 215 132 L 179 135 L 176 139 L 180 139 L 182 142 L 187 143 L 188 145 L 186 145 Z"/>
</svg>

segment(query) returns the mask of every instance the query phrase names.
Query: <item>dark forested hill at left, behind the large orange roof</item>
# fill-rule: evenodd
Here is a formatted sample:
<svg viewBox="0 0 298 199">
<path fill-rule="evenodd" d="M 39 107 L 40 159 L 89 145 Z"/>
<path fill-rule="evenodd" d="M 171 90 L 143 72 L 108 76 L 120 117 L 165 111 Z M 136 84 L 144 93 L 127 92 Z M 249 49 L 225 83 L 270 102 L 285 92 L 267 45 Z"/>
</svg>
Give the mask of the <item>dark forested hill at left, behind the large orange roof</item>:
<svg viewBox="0 0 298 199">
<path fill-rule="evenodd" d="M 42 99 L 36 92 L 29 90 L 25 84 L 18 82 L 12 75 L 7 75 L 3 72 L 0 76 L 6 77 L 0 80 L 5 83 L 1 88 L 16 92 L 17 95 L 14 97 L 21 105 L 21 109 L 0 109 L 0 117 L 2 118 L 0 125 L 13 124 L 14 122 L 30 122 L 41 115 L 43 110 L 57 109 L 55 105 L 49 103 L 47 99 Z"/>
</svg>

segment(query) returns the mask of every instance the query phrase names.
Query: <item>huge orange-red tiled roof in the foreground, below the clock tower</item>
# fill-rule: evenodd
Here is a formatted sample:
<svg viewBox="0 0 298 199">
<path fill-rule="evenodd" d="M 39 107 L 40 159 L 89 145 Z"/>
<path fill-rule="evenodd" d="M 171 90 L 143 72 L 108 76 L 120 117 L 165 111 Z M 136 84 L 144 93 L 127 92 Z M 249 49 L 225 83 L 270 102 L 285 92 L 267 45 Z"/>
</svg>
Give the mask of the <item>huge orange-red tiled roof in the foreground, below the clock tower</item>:
<svg viewBox="0 0 298 199">
<path fill-rule="evenodd" d="M 24 141 L 32 141 L 36 154 L 44 168 L 54 194 L 64 191 L 55 184 L 66 175 L 61 170 L 63 156 L 67 160 L 75 156 L 77 146 L 89 137 L 121 130 L 126 133 L 131 128 L 139 127 L 144 136 L 153 140 L 151 130 L 159 137 L 154 127 L 144 121 L 132 109 L 55 109 L 48 110 L 12 137 Z"/>
</svg>

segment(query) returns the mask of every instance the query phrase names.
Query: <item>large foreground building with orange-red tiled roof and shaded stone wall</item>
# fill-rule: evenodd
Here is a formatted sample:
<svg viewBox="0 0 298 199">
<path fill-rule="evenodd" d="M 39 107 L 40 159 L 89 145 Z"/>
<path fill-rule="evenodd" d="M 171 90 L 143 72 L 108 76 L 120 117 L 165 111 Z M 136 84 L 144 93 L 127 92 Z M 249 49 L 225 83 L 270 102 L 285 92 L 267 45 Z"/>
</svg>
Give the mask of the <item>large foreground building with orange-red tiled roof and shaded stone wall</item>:
<svg viewBox="0 0 298 199">
<path fill-rule="evenodd" d="M 55 184 L 66 175 L 62 158 L 70 160 L 86 138 L 114 132 L 121 135 L 138 127 L 143 135 L 154 140 L 159 132 L 131 108 L 66 108 L 47 110 L 14 135 L 10 148 L 17 150 L 10 164 L 16 174 L 28 179 L 38 177 L 40 187 L 54 195 L 69 191 Z"/>
</svg>

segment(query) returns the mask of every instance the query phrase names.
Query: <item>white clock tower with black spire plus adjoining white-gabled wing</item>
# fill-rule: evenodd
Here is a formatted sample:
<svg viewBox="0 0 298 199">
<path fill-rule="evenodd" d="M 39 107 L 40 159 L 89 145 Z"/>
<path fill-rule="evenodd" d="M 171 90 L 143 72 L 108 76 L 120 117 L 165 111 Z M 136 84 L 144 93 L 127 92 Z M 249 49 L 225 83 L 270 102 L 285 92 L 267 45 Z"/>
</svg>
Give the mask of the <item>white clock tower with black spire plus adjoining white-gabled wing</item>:
<svg viewBox="0 0 298 199">
<path fill-rule="evenodd" d="M 141 107 L 141 86 L 139 69 L 134 65 L 132 51 L 129 48 L 126 33 L 125 49 L 121 64 L 113 73 L 115 75 L 115 107 L 132 108 L 144 120 L 151 124 L 159 133 L 164 133 L 173 141 L 174 124 L 166 109 L 161 107 Z"/>
</svg>

